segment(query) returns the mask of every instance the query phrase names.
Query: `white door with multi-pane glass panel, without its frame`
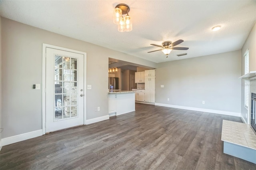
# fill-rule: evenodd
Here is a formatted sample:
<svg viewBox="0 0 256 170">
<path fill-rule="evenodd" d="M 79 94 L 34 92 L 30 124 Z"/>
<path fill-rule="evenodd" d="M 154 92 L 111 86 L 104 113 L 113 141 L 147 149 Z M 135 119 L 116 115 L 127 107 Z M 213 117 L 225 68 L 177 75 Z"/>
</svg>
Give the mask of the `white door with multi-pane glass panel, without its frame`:
<svg viewBox="0 0 256 170">
<path fill-rule="evenodd" d="M 85 124 L 84 57 L 46 47 L 46 133 Z"/>
</svg>

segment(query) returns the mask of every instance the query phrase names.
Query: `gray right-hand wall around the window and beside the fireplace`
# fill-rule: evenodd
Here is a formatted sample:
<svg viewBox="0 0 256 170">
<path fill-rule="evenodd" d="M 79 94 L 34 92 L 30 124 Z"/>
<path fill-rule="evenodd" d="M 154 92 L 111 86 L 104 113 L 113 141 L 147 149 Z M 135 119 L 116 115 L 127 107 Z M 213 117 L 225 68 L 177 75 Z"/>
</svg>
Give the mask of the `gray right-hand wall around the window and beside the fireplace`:
<svg viewBox="0 0 256 170">
<path fill-rule="evenodd" d="M 244 75 L 244 53 L 249 49 L 249 71 L 256 71 L 256 23 L 254 24 L 250 34 L 248 35 L 241 49 L 241 75 Z M 250 98 L 249 98 L 250 99 Z M 250 103 L 250 100 L 249 100 Z M 242 80 L 241 88 L 241 116 L 247 122 L 248 110 L 244 107 L 244 80 Z M 248 122 L 247 122 L 248 123 Z"/>
</svg>

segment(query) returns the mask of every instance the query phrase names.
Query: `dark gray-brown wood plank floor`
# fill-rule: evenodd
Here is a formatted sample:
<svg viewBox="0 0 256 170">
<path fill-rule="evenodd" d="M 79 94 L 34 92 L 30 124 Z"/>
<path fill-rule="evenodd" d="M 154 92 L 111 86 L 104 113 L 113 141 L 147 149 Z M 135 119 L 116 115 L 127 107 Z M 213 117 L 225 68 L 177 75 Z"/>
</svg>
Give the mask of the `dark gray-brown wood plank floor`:
<svg viewBox="0 0 256 170">
<path fill-rule="evenodd" d="M 239 117 L 136 103 L 136 111 L 3 146 L 0 169 L 255 170 L 223 153 L 222 120 Z"/>
</svg>

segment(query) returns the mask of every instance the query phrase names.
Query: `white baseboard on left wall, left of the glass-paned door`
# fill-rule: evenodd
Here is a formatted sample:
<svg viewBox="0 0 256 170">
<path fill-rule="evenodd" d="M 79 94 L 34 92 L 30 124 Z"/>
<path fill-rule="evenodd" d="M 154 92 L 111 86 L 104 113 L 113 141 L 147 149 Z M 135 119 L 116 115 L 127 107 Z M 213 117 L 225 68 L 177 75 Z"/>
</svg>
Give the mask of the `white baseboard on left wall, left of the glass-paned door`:
<svg viewBox="0 0 256 170">
<path fill-rule="evenodd" d="M 12 144 L 12 143 L 20 142 L 20 141 L 23 141 L 23 140 L 27 140 L 27 139 L 35 138 L 35 137 L 38 137 L 38 136 L 42 136 L 42 132 L 43 132 L 43 130 L 41 129 L 41 130 L 36 130 L 36 131 L 33 131 L 33 132 L 28 132 L 28 133 L 18 134 L 18 135 L 15 135 L 15 136 L 10 136 L 10 137 L 7 137 L 7 138 L 2 138 L 1 146 L 5 146 L 5 145 L 8 145 L 8 144 Z"/>
</svg>

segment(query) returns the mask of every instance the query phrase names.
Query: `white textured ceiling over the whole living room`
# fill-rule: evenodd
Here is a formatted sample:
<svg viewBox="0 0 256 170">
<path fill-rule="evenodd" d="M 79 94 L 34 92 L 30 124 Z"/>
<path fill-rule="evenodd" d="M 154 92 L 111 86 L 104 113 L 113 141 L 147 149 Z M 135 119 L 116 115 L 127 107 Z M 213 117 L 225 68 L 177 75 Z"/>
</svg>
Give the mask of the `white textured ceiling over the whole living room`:
<svg viewBox="0 0 256 170">
<path fill-rule="evenodd" d="M 156 63 L 242 48 L 256 21 L 256 1 L 80 0 L 0 1 L 1 16 Z M 118 32 L 113 9 L 130 6 L 133 30 Z M 220 25 L 221 30 L 211 28 Z M 168 58 L 158 47 L 182 39 Z M 86 51 L 85 51 L 86 52 Z M 180 53 L 188 53 L 181 57 Z"/>
</svg>

